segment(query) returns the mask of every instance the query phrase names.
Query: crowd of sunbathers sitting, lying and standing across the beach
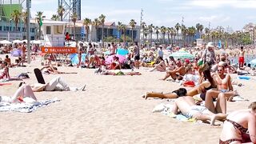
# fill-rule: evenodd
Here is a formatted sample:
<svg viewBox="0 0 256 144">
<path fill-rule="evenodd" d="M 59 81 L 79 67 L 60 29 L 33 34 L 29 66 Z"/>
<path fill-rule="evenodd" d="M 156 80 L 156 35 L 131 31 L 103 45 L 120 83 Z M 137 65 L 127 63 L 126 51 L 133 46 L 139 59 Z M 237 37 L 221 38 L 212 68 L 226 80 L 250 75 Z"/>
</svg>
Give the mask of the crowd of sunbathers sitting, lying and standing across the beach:
<svg viewBox="0 0 256 144">
<path fill-rule="evenodd" d="M 16 66 L 24 66 L 26 62 L 26 43 L 14 44 L 14 48 L 5 46 L 5 59 L 0 59 L 0 80 L 14 79 L 22 80 L 22 78 L 11 77 L 9 69 Z M 254 67 L 246 64 L 245 56 L 250 52 L 254 54 L 254 50 L 247 46 L 240 46 L 238 54 L 228 54 L 221 52 L 215 54 L 216 47 L 214 43 L 209 42 L 206 46 L 202 46 L 200 50 L 180 49 L 172 47 L 167 53 L 183 50 L 187 53 L 194 54 L 194 58 L 174 58 L 167 55 L 165 45 L 156 45 L 154 48 L 148 46 L 139 46 L 138 42 L 134 42 L 133 46 L 127 50 L 127 54 L 120 55 L 117 53 L 118 46 L 112 42 L 108 44 L 107 54 L 98 51 L 96 46 L 89 42 L 88 46 L 78 45 L 78 62 L 62 64 L 56 61 L 54 54 L 44 55 L 45 62 L 42 62 L 42 74 L 77 74 L 67 73 L 58 70 L 58 66 L 74 66 L 81 68 L 94 68 L 95 74 L 105 75 L 140 75 L 136 70 L 141 67 L 150 67 L 150 72 L 162 72 L 160 80 L 170 80 L 179 82 L 182 85 L 178 90 L 168 93 L 147 92 L 143 98 L 176 98 L 173 114 L 184 114 L 187 118 L 196 118 L 203 122 L 209 122 L 214 125 L 216 120 L 225 121 L 220 137 L 220 143 L 231 142 L 256 142 L 256 102 L 252 102 L 247 110 L 238 110 L 231 114 L 227 114 L 226 102 L 233 102 L 238 92 L 234 90 L 233 85 L 242 86 L 232 81 L 230 74 L 255 74 Z M 9 55 L 11 50 L 21 50 L 21 54 L 15 63 L 12 63 Z M 105 51 L 106 51 L 105 50 Z M 40 50 L 34 50 L 37 55 Z M 86 58 L 82 61 L 82 54 L 86 54 Z M 238 64 L 234 64 L 232 58 L 238 55 Z M 110 58 L 110 61 L 106 61 Z M 55 61 L 55 62 L 54 62 Z M 55 64 L 54 64 L 55 63 Z M 122 72 L 123 69 L 129 69 L 129 72 Z M 116 71 L 118 70 L 118 71 Z M 163 74 L 165 73 L 165 74 Z M 184 88 L 189 86 L 192 88 Z M 37 98 L 34 92 L 40 91 L 76 91 L 85 90 L 86 85 L 74 88 L 70 87 L 62 77 L 57 76 L 46 84 L 35 82 L 28 85 L 21 82 L 18 90 L 12 97 L 0 96 L 0 102 L 22 102 L 22 98 L 30 97 L 34 101 Z M 196 97 L 199 95 L 198 97 Z"/>
</svg>

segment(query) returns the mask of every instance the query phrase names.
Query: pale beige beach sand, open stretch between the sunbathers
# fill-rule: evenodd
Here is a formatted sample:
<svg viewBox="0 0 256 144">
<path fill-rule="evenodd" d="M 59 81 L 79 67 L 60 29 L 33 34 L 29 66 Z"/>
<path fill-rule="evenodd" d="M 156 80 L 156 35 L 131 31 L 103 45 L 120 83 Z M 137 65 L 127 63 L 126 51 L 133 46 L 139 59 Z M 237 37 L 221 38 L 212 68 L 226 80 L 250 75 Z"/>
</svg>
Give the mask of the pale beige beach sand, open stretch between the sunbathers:
<svg viewBox="0 0 256 144">
<path fill-rule="evenodd" d="M 37 81 L 33 70 L 38 66 L 41 67 L 40 58 L 30 66 L 10 68 L 10 75 L 31 72 L 30 79 L 24 81 L 34 83 Z M 76 67 L 58 69 L 78 74 L 44 75 L 46 82 L 60 75 L 70 86 L 86 83 L 86 91 L 35 93 L 39 100 L 57 97 L 61 102 L 29 114 L 1 112 L 0 143 L 218 143 L 222 126 L 181 122 L 152 113 L 154 106 L 166 100 L 144 100 L 142 94 L 170 92 L 180 87 L 178 83 L 158 80 L 164 72 L 142 68 L 138 70 L 142 73 L 140 76 L 106 76 Z M 234 89 L 254 102 L 256 81 L 237 81 L 245 86 Z M 19 82 L 13 83 L 13 86 L 1 86 L 0 94 L 14 94 Z M 228 113 L 245 109 L 250 102 L 227 102 Z"/>
</svg>

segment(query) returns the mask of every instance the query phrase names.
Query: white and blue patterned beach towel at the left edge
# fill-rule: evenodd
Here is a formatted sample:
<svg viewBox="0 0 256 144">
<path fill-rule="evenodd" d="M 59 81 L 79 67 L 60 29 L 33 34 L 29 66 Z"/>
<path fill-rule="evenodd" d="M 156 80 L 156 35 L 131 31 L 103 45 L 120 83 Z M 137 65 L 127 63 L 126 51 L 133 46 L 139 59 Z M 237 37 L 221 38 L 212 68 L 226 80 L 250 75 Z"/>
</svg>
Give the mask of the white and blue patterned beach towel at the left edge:
<svg viewBox="0 0 256 144">
<path fill-rule="evenodd" d="M 22 103 L 6 103 L 0 102 L 0 111 L 18 111 L 22 113 L 31 113 L 34 110 L 37 110 L 39 107 L 47 106 L 52 102 L 60 102 L 58 98 L 42 100 L 39 102 L 34 102 L 32 98 L 23 98 L 24 102 Z"/>
</svg>

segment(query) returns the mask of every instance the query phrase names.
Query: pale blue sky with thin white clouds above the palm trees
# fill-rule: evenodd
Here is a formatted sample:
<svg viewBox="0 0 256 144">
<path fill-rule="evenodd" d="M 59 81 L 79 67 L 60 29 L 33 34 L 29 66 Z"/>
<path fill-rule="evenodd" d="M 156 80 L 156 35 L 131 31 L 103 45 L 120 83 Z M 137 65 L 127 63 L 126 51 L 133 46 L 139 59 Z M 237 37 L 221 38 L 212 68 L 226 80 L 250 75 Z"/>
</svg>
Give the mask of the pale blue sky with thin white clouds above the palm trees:
<svg viewBox="0 0 256 144">
<path fill-rule="evenodd" d="M 32 0 L 31 14 L 43 11 L 46 18 L 56 14 L 58 0 Z M 98 18 L 106 15 L 106 22 L 128 24 L 130 19 L 147 25 L 174 26 L 182 22 L 186 26 L 201 23 L 205 27 L 232 27 L 242 30 L 249 22 L 256 21 L 256 0 L 82 0 L 82 18 Z"/>
</svg>

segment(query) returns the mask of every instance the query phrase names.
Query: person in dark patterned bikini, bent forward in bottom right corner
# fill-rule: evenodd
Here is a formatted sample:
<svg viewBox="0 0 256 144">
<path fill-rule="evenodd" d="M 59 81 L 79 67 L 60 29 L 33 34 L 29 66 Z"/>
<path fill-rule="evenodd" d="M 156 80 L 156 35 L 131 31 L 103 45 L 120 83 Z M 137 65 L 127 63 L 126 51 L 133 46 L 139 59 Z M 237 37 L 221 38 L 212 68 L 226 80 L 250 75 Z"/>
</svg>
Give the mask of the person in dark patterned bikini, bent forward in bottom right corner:
<svg viewBox="0 0 256 144">
<path fill-rule="evenodd" d="M 243 142 L 256 143 L 256 102 L 252 102 L 246 110 L 229 114 L 223 124 L 220 144 Z"/>
</svg>

